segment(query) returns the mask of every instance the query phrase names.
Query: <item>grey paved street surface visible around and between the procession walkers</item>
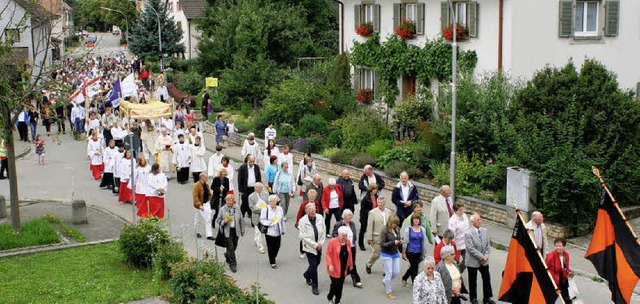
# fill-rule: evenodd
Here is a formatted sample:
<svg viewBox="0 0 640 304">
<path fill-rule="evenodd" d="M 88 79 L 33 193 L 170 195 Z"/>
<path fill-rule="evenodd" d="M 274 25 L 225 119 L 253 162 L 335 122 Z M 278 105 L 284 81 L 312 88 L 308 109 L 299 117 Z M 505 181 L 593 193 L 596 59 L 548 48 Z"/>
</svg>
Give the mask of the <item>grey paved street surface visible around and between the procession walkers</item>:
<svg viewBox="0 0 640 304">
<path fill-rule="evenodd" d="M 111 34 L 99 35 L 99 43 L 96 54 L 108 54 L 121 50 L 117 45 L 118 36 Z M 130 58 L 130 57 L 129 57 Z M 42 127 L 39 126 L 41 129 Z M 55 128 L 54 128 L 55 129 Z M 47 140 L 45 166 L 36 164 L 36 155 L 31 152 L 25 158 L 18 161 L 19 189 L 22 199 L 41 199 L 70 202 L 73 199 L 85 199 L 88 204 L 104 208 L 124 219 L 132 219 L 132 206 L 117 203 L 116 196 L 111 191 L 100 190 L 98 182 L 91 178 L 89 171 L 89 161 L 86 156 L 86 143 L 74 141 L 69 135 L 55 135 Z M 212 148 L 213 136 L 205 135 L 205 142 Z M 229 148 L 224 153 L 234 159 L 239 158 L 239 149 Z M 210 152 L 207 154 L 207 160 Z M 261 164 L 261 162 L 260 162 Z M 237 169 L 237 165 L 234 164 Z M 352 176 L 353 177 L 353 176 Z M 328 176 L 323 175 L 326 183 Z M 355 177 L 358 178 L 358 177 Z M 235 182 L 235 181 L 234 181 Z M 179 185 L 172 179 L 169 182 L 169 189 L 166 195 L 166 209 L 168 227 L 171 233 L 180 238 L 186 250 L 192 256 L 202 256 L 204 251 L 215 254 L 213 242 L 196 239 L 193 233 L 194 208 L 192 205 L 191 183 Z M 7 180 L 0 181 L 0 194 L 8 196 Z M 237 188 L 236 188 L 237 189 Z M 388 191 L 382 193 L 390 198 Z M 263 291 L 269 294 L 269 298 L 277 303 L 326 303 L 326 294 L 329 288 L 329 278 L 326 274 L 324 259 L 319 267 L 320 296 L 311 294 L 311 289 L 305 284 L 302 272 L 307 267 L 306 260 L 298 258 L 298 237 L 297 231 L 293 228 L 294 221 L 292 214 L 300 205 L 300 198 L 296 197 L 290 207 L 289 221 L 287 222 L 288 233 L 283 237 L 282 248 L 278 256 L 279 269 L 273 270 L 269 267 L 266 255 L 257 254 L 253 247 L 253 230 L 247 223 L 245 225 L 247 235 L 240 239 L 238 254 L 238 273 L 232 276 L 238 280 L 242 286 L 249 286 L 258 281 Z M 359 208 L 357 206 L 356 208 Z M 356 210 L 355 214 L 358 214 Z M 358 222 L 358 219 L 356 219 Z M 491 225 L 491 223 L 487 223 Z M 493 224 L 491 227 L 498 227 Z M 490 233 L 492 228 L 490 229 Z M 501 226 L 500 233 L 509 235 L 509 229 Z M 433 247 L 431 247 L 432 249 Z M 222 257 L 222 251 L 218 255 Z M 400 278 L 394 280 L 394 294 L 398 297 L 395 301 L 387 300 L 382 282 L 382 264 L 378 261 L 373 267 L 373 273 L 367 275 L 364 271 L 364 263 L 368 259 L 370 250 L 358 252 L 357 267 L 363 279 L 364 289 L 356 289 L 351 285 L 351 280 L 345 282 L 343 303 L 410 303 L 411 291 L 402 287 Z M 500 274 L 506 260 L 506 252 L 493 249 L 491 254 L 491 276 L 494 291 L 494 298 L 500 287 Z M 572 260 L 582 259 L 580 256 L 572 256 Z M 404 273 L 408 263 L 401 262 L 401 275 Z M 465 281 L 466 281 L 466 275 Z M 588 277 L 577 277 L 585 303 L 610 303 L 609 291 L 606 285 L 593 281 Z M 468 286 L 468 284 L 467 284 Z M 481 293 L 481 291 L 480 291 Z M 482 297 L 480 297 L 482 298 Z M 640 303 L 639 297 L 633 298 L 633 303 Z"/>
</svg>

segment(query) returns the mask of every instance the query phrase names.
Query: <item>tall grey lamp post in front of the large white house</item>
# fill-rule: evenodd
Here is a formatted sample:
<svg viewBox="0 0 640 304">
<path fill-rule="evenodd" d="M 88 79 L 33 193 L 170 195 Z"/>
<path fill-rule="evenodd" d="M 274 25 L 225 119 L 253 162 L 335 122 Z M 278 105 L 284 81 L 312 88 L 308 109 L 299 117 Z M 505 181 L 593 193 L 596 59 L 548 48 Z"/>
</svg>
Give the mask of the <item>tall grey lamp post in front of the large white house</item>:
<svg viewBox="0 0 640 304">
<path fill-rule="evenodd" d="M 453 7 L 451 0 L 448 0 L 449 7 L 453 13 L 453 44 L 451 45 L 451 160 L 449 163 L 449 187 L 451 188 L 451 201 L 455 199 L 456 185 L 456 101 L 457 101 L 457 78 L 458 78 L 458 14 Z"/>
</svg>

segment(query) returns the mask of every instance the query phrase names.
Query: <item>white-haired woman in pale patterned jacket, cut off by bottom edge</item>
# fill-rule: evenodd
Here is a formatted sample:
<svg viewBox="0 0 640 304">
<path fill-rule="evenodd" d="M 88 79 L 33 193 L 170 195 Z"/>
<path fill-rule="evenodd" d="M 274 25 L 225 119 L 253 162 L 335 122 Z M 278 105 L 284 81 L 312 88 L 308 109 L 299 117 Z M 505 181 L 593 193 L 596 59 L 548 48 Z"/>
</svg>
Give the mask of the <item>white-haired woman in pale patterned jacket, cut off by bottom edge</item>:
<svg viewBox="0 0 640 304">
<path fill-rule="evenodd" d="M 436 261 L 432 256 L 425 259 L 424 271 L 413 282 L 413 304 L 446 304 L 447 295 L 440 273 L 435 271 Z"/>
</svg>

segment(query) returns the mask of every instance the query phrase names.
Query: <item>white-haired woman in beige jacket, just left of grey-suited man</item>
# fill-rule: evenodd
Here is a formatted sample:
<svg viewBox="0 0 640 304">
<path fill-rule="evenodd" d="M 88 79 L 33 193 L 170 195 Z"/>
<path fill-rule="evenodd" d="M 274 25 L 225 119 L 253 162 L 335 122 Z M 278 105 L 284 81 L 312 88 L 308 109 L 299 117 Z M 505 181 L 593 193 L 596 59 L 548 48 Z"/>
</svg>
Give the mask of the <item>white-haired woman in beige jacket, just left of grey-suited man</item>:
<svg viewBox="0 0 640 304">
<path fill-rule="evenodd" d="M 447 295 L 447 303 L 460 304 L 463 293 L 466 293 L 462 284 L 462 274 L 454 257 L 455 251 L 452 246 L 444 246 L 440 249 L 442 261 L 436 265 L 436 272 L 442 278 L 442 284 Z M 466 299 L 465 299 L 466 300 Z"/>
</svg>

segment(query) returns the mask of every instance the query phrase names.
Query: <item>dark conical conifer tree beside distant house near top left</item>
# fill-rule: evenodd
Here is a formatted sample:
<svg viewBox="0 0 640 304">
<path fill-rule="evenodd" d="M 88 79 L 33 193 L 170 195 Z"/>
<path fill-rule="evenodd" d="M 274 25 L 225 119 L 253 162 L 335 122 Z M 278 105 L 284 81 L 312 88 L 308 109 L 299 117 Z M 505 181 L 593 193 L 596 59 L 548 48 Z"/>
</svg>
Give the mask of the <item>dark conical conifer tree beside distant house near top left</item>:
<svg viewBox="0 0 640 304">
<path fill-rule="evenodd" d="M 158 20 L 162 31 L 162 53 L 184 53 L 185 46 L 180 43 L 182 31 L 178 29 L 173 17 L 167 14 L 166 6 L 159 0 L 150 0 L 144 6 L 144 11 L 138 16 L 138 22 L 133 26 L 130 50 L 132 53 L 146 57 L 160 56 L 158 41 Z M 157 13 L 157 14 L 156 14 Z"/>
</svg>

